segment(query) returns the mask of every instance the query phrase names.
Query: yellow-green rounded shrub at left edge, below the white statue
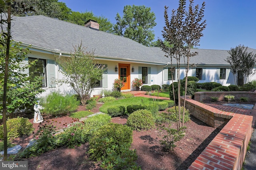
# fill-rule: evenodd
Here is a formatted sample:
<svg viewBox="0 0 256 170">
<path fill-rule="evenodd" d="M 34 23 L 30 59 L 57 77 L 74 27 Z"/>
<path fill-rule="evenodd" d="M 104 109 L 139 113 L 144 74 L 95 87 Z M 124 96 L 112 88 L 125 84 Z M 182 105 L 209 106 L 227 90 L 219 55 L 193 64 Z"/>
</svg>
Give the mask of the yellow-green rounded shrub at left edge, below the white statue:
<svg viewBox="0 0 256 170">
<path fill-rule="evenodd" d="M 8 140 L 24 135 L 30 135 L 34 131 L 32 123 L 29 122 L 28 118 L 24 117 L 7 119 L 6 126 Z M 0 139 L 4 139 L 3 125 L 0 126 Z"/>
</svg>

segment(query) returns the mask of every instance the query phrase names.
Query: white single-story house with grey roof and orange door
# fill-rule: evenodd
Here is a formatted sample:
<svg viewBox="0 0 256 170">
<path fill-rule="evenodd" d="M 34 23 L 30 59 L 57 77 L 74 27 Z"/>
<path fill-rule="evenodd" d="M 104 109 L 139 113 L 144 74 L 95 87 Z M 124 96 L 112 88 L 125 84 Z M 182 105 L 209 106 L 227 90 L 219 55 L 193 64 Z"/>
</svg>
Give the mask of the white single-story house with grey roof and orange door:
<svg viewBox="0 0 256 170">
<path fill-rule="evenodd" d="M 38 60 L 38 74 L 44 76 L 42 96 L 51 91 L 69 92 L 68 84 L 55 84 L 61 79 L 60 66 L 55 57 L 69 57 L 75 45 L 82 42 L 87 51 L 93 51 L 95 61 L 104 64 L 107 70 L 102 81 L 94 88 L 92 95 L 100 94 L 102 89 L 113 89 L 116 78 L 123 78 L 125 86 L 122 91 L 135 90 L 132 87 L 134 78 L 142 78 L 144 85 L 171 84 L 170 58 L 158 47 L 146 47 L 126 37 L 99 31 L 98 23 L 89 20 L 85 26 L 76 25 L 46 16 L 12 17 L 12 38 L 22 42 L 24 47 L 30 45 L 29 60 Z M 234 84 L 230 65 L 225 61 L 228 50 L 192 49 L 198 55 L 192 57 L 190 64 L 197 64 L 190 69 L 188 76 L 197 76 L 199 82 L 218 82 L 224 86 Z M 255 49 L 248 51 L 256 53 Z M 27 70 L 28 74 L 30 70 Z M 180 71 L 184 78 L 184 70 Z M 175 72 L 177 80 L 177 70 Z M 251 80 L 256 76 L 250 77 Z"/>
</svg>

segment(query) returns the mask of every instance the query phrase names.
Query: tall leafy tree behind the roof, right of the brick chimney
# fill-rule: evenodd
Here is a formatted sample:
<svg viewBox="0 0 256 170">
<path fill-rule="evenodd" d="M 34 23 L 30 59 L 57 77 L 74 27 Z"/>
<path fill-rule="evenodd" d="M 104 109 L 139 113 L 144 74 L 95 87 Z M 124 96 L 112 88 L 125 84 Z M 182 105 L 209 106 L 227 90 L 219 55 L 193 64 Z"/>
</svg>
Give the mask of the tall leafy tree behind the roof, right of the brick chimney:
<svg viewBox="0 0 256 170">
<path fill-rule="evenodd" d="M 127 5 L 124 7 L 122 18 L 118 13 L 116 14 L 116 24 L 114 24 L 113 32 L 150 46 L 155 36 L 152 30 L 156 26 L 155 20 L 156 16 L 150 8 L 144 5 Z"/>
</svg>

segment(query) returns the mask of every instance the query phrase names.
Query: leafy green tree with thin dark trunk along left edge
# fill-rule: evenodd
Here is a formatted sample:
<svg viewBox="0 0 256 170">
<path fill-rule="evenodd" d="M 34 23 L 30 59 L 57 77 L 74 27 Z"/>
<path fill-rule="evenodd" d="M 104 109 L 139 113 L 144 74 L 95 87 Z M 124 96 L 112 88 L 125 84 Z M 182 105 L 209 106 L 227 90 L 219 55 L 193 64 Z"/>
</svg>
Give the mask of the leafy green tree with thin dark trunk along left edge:
<svg viewBox="0 0 256 170">
<path fill-rule="evenodd" d="M 2 100 L 0 109 L 3 114 L 4 160 L 7 160 L 6 113 L 28 107 L 28 104 L 33 105 L 35 96 L 42 92 L 38 85 L 40 80 L 37 79 L 34 84 L 29 84 L 30 78 L 24 74 L 24 70 L 29 65 L 21 62 L 26 57 L 27 51 L 11 41 L 12 12 L 24 13 L 32 8 L 32 6 L 27 8 L 26 4 L 20 3 L 19 0 L 0 0 L 0 99 Z"/>
</svg>

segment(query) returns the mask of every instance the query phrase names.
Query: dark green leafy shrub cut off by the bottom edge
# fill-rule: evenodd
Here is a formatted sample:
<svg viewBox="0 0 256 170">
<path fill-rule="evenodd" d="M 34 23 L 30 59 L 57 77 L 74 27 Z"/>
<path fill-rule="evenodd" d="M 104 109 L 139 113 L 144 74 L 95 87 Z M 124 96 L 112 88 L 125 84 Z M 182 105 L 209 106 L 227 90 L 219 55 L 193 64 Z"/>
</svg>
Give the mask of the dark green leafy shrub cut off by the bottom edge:
<svg viewBox="0 0 256 170">
<path fill-rule="evenodd" d="M 118 153 L 119 152 L 119 153 Z M 112 145 L 106 149 L 106 157 L 102 158 L 100 167 L 106 170 L 140 170 L 136 160 L 136 150 L 130 150 L 129 145 Z"/>
</svg>

